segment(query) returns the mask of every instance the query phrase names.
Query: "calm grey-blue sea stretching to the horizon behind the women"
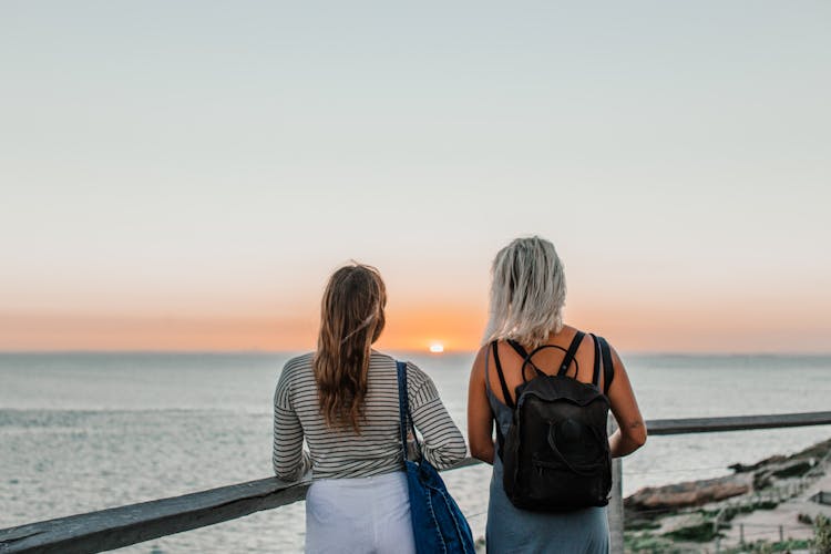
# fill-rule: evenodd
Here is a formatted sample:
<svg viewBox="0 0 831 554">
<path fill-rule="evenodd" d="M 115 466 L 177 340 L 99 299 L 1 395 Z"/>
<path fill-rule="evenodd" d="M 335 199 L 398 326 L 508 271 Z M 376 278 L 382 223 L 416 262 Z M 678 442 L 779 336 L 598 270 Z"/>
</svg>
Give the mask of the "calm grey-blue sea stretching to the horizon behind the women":
<svg viewBox="0 0 831 554">
<path fill-rule="evenodd" d="M 289 355 L 0 355 L 0 527 L 270 474 L 271 393 Z M 465 428 L 472 355 L 406 355 Z M 831 357 L 624 356 L 647 419 L 829 409 Z M 624 493 L 729 473 L 831 435 L 818 427 L 652 438 Z M 489 468 L 445 473 L 484 533 Z M 297 503 L 120 552 L 293 552 Z"/>
</svg>

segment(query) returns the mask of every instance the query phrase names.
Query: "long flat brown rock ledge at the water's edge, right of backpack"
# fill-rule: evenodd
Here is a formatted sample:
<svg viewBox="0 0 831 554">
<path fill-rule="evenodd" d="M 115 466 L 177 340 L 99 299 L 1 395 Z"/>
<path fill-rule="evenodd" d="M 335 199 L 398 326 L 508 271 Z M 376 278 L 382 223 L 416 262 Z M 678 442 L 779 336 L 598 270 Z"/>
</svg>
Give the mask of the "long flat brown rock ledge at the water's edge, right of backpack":
<svg viewBox="0 0 831 554">
<path fill-rule="evenodd" d="M 752 479 L 752 475 L 736 474 L 666 486 L 647 486 L 625 499 L 624 506 L 638 512 L 700 506 L 750 492 Z"/>
</svg>

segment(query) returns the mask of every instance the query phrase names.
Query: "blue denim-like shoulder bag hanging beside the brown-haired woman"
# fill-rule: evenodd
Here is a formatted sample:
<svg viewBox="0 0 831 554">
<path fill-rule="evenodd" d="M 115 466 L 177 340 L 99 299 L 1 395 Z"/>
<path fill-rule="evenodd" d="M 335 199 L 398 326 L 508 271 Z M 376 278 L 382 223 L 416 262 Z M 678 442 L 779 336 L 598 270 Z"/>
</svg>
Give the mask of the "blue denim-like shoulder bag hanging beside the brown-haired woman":
<svg viewBox="0 0 831 554">
<path fill-rule="evenodd" d="M 474 554 L 473 534 L 468 520 L 444 486 L 439 472 L 421 453 L 421 445 L 412 428 L 410 402 L 407 396 L 407 363 L 397 361 L 398 408 L 401 420 L 401 450 L 410 492 L 410 514 L 416 551 L 419 554 Z M 412 429 L 419 460 L 407 459 L 407 432 Z"/>
</svg>

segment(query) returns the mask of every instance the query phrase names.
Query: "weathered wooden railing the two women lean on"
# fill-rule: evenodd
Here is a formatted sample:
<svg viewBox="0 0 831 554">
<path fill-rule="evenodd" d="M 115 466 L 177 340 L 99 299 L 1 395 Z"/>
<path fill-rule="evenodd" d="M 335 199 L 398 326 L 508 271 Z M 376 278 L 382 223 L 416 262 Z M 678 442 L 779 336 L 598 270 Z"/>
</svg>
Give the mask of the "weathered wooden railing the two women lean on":
<svg viewBox="0 0 831 554">
<path fill-rule="evenodd" d="M 749 431 L 831 424 L 831 411 L 729 418 L 647 421 L 650 435 Z M 454 469 L 481 463 L 466 459 Z M 614 464 L 609 502 L 613 552 L 623 552 L 620 460 Z M 0 530 L 0 554 L 93 553 L 181 533 L 244 515 L 284 506 L 306 496 L 310 481 L 285 483 L 275 478 L 154 500 L 140 504 L 71 515 Z"/>
</svg>

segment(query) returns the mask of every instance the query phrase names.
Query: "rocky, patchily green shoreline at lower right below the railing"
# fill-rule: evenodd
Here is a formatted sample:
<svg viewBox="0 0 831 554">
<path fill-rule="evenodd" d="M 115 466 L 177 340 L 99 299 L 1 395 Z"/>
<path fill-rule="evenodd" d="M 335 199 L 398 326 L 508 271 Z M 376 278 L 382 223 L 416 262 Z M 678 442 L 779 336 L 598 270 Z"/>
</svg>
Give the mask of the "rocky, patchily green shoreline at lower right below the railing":
<svg viewBox="0 0 831 554">
<path fill-rule="evenodd" d="M 733 473 L 722 478 L 642 489 L 624 500 L 626 551 L 718 552 L 714 543 L 729 534 L 735 517 L 756 510 L 774 510 L 799 497 L 824 475 L 830 456 L 831 439 L 828 439 L 792 455 L 774 455 L 751 465 L 730 465 L 728 469 Z M 784 523 L 789 529 L 801 524 L 810 530 L 813 522 L 806 516 L 799 522 Z M 784 543 L 780 545 L 782 551 L 791 550 Z"/>
</svg>

